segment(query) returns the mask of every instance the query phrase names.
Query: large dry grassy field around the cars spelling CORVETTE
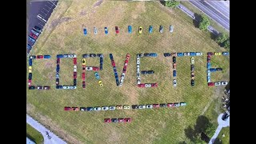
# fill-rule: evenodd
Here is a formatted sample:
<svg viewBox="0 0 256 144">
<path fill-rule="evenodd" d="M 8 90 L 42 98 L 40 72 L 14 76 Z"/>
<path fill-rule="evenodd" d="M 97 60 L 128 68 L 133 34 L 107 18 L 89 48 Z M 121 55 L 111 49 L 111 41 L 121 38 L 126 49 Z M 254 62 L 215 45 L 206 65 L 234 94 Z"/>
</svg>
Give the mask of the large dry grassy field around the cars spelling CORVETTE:
<svg viewBox="0 0 256 144">
<path fill-rule="evenodd" d="M 51 86 L 51 90 L 28 90 L 26 111 L 54 133 L 70 143 L 178 143 L 188 142 L 184 129 L 193 126 L 212 98 L 215 88 L 206 82 L 206 52 L 222 51 L 210 39 L 210 33 L 194 27 L 191 18 L 180 10 L 167 10 L 159 2 L 60 1 L 42 36 L 31 54 L 50 54 L 49 60 L 34 60 L 33 84 Z M 133 26 L 128 34 L 127 26 Z M 154 33 L 148 34 L 148 26 Z M 164 33 L 158 33 L 158 26 Z M 174 33 L 168 26 L 174 26 Z M 88 35 L 82 33 L 87 27 Z M 98 34 L 93 34 L 93 27 Z M 109 34 L 104 34 L 104 26 Z M 120 34 L 114 34 L 114 26 Z M 143 27 L 141 35 L 138 26 Z M 195 58 L 195 86 L 190 86 L 190 57 L 177 58 L 178 86 L 172 86 L 171 58 L 165 52 L 201 51 Z M 154 75 L 142 76 L 142 82 L 158 82 L 157 88 L 141 89 L 136 86 L 136 54 L 156 52 L 157 58 L 141 58 L 141 70 L 154 70 Z M 56 54 L 78 55 L 78 89 L 56 90 Z M 103 70 L 99 72 L 104 86 L 99 87 L 93 72 L 86 72 L 86 89 L 82 89 L 82 54 L 104 54 Z M 114 54 L 120 77 L 126 54 L 131 55 L 123 86 L 115 84 L 109 54 Z M 87 66 L 98 66 L 98 58 L 88 58 Z M 213 81 L 223 80 L 228 73 L 229 58 L 213 57 L 212 65 L 223 71 L 213 74 Z M 62 59 L 60 83 L 73 82 L 72 59 Z M 229 78 L 228 78 L 229 79 Z M 226 80 L 228 80 L 226 79 Z M 218 96 L 217 96 L 218 97 Z M 64 106 L 111 106 L 150 104 L 162 102 L 187 102 L 177 109 L 114 110 L 94 112 L 66 112 Z M 209 106 L 210 107 L 210 106 Z M 133 118 L 126 124 L 105 124 L 103 118 Z M 217 118 L 217 117 L 216 117 Z"/>
</svg>

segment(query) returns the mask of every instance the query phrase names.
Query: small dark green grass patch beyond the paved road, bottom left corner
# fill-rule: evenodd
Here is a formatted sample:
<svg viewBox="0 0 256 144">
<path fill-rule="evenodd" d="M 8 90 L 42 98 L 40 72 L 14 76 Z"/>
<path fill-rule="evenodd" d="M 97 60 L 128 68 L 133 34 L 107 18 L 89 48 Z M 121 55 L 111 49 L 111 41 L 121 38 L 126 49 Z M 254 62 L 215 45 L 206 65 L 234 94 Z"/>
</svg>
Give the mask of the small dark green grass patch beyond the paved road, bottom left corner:
<svg viewBox="0 0 256 144">
<path fill-rule="evenodd" d="M 26 123 L 26 136 L 37 144 L 43 143 L 42 134 Z"/>
</svg>

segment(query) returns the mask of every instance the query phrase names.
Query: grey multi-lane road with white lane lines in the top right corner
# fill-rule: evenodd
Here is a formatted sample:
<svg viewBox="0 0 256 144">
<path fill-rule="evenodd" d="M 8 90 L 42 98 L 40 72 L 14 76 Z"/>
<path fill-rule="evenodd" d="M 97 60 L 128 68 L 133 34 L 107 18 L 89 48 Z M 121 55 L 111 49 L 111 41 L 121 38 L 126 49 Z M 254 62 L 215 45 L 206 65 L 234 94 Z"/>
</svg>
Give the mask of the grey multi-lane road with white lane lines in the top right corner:
<svg viewBox="0 0 256 144">
<path fill-rule="evenodd" d="M 226 30 L 230 30 L 230 5 L 228 1 L 189 1 Z"/>
</svg>

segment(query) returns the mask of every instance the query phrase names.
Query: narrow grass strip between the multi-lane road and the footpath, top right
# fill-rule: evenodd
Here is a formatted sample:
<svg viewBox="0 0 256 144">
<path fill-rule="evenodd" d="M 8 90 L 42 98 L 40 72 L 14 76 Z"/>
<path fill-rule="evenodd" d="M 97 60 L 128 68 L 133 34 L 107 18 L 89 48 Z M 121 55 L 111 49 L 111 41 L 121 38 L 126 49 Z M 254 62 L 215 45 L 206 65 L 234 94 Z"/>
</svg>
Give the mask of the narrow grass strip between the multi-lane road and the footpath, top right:
<svg viewBox="0 0 256 144">
<path fill-rule="evenodd" d="M 204 14 L 203 12 L 201 12 L 201 10 L 199 10 L 197 7 L 195 7 L 194 5 L 192 5 L 190 2 L 181 2 L 181 4 L 183 6 L 186 6 L 186 8 L 188 8 L 189 10 L 191 10 L 194 13 L 197 14 Z M 206 14 L 204 14 L 206 15 Z M 228 36 L 230 36 L 230 32 L 228 30 L 225 30 L 222 26 L 219 26 L 219 24 L 217 22 L 215 22 L 214 20 L 210 19 L 210 26 L 213 26 L 215 30 L 218 30 L 218 32 L 221 32 L 223 34 L 227 34 Z"/>
</svg>

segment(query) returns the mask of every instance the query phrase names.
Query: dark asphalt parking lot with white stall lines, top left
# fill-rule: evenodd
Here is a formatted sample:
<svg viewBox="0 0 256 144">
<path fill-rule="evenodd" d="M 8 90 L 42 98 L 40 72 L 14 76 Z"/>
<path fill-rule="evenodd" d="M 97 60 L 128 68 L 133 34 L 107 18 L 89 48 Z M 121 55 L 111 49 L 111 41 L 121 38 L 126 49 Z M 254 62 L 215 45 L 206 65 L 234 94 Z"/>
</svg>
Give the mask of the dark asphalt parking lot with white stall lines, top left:
<svg viewBox="0 0 256 144">
<path fill-rule="evenodd" d="M 34 26 L 38 26 L 43 29 L 43 26 L 46 25 L 46 22 L 50 18 L 50 14 L 54 11 L 54 8 L 57 6 L 58 1 L 31 1 L 29 4 L 29 26 L 28 34 Z M 33 43 L 28 40 L 30 46 L 33 46 Z M 29 53 L 30 50 L 27 50 Z"/>
</svg>

